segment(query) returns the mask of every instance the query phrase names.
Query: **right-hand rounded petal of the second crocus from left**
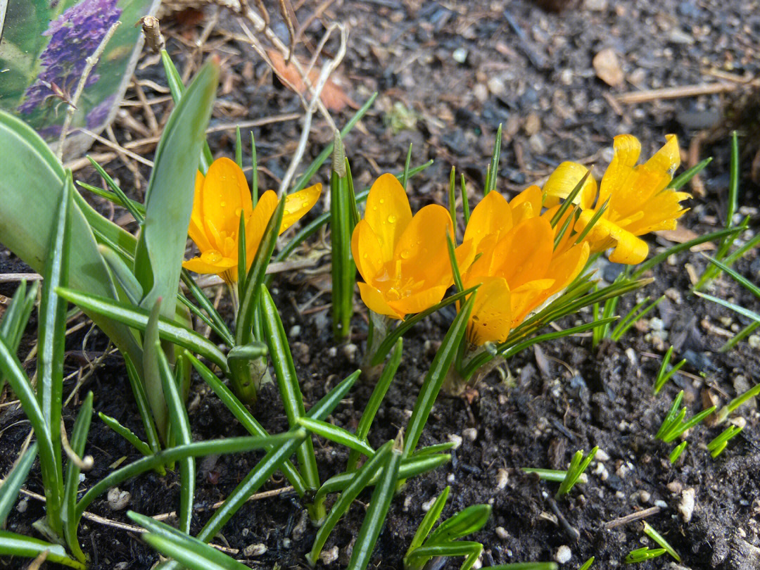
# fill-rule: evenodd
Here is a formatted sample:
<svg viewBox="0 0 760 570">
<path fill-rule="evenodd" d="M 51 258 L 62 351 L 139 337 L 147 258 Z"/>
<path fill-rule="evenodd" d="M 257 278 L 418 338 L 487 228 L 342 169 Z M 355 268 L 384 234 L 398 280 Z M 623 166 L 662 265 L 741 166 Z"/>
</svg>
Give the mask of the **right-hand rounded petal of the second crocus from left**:
<svg viewBox="0 0 760 570">
<path fill-rule="evenodd" d="M 454 239 L 454 224 L 445 207 L 430 204 L 414 214 L 393 252 L 394 260 L 401 260 L 401 275 L 428 286 L 445 280 L 448 287 L 452 277 L 447 231 Z"/>
</svg>

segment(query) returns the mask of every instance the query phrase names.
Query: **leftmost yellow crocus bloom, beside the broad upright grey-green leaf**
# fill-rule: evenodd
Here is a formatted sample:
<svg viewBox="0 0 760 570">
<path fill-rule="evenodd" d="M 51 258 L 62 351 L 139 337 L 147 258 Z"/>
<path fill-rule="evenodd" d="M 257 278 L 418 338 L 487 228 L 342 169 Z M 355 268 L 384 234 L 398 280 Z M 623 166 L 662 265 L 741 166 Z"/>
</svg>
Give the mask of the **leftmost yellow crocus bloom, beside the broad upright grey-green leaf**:
<svg viewBox="0 0 760 570">
<path fill-rule="evenodd" d="M 321 184 L 285 197 L 280 233 L 312 209 L 321 193 Z M 251 191 L 242 169 L 229 158 L 211 163 L 206 176 L 195 177 L 195 198 L 188 234 L 201 255 L 188 259 L 182 267 L 201 274 L 217 274 L 231 284 L 238 278 L 238 233 L 240 217 L 245 221 L 245 251 L 250 267 L 264 230 L 277 209 L 277 194 L 264 192 L 253 207 Z M 246 268 L 247 269 L 247 268 Z"/>
</svg>

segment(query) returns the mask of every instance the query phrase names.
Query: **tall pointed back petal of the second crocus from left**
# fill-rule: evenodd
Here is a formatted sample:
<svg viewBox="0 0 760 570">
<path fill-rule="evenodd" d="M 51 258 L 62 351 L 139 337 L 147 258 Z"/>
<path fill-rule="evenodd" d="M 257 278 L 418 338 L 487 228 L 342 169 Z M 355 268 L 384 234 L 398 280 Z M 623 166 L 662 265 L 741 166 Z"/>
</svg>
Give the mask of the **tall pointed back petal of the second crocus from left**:
<svg viewBox="0 0 760 570">
<path fill-rule="evenodd" d="M 382 249 L 382 261 L 391 261 L 398 239 L 412 220 L 407 192 L 392 174 L 383 174 L 369 188 L 364 219 Z"/>
</svg>

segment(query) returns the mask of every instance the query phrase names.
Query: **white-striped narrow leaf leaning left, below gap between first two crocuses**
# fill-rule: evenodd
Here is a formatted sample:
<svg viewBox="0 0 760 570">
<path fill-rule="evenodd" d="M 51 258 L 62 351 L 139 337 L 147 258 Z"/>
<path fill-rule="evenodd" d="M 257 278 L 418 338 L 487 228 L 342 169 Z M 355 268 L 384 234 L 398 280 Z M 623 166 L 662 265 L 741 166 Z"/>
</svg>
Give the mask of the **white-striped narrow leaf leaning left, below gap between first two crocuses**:
<svg viewBox="0 0 760 570">
<path fill-rule="evenodd" d="M 277 312 L 274 299 L 266 287 L 261 288 L 261 316 L 264 321 L 264 337 L 267 340 L 272 365 L 274 366 L 274 375 L 277 378 L 277 387 L 280 388 L 280 396 L 288 423 L 293 428 L 296 426 L 298 418 L 304 416 L 306 412 L 303 407 L 301 387 L 296 375 L 296 365 L 293 363 L 293 355 L 290 353 L 290 346 L 280 320 L 280 313 Z M 299 447 L 297 455 L 306 486 L 309 489 L 317 489 L 319 487 L 319 475 L 311 438 L 307 438 Z"/>
</svg>

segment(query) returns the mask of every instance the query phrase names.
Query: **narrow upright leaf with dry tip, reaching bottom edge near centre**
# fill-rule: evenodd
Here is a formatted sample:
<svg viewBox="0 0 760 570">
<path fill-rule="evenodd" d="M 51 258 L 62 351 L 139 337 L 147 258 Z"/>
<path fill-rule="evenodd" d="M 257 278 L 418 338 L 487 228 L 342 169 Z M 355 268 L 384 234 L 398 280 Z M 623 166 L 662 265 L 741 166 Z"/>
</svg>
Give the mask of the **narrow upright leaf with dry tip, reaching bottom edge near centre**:
<svg viewBox="0 0 760 570">
<path fill-rule="evenodd" d="M 372 492 L 372 499 L 369 499 L 369 507 L 364 515 L 362 527 L 359 528 L 359 534 L 356 536 L 347 570 L 364 570 L 369 564 L 380 530 L 385 523 L 385 515 L 388 514 L 388 508 L 393 500 L 402 456 L 401 449 L 394 446 L 383 462 L 382 473 Z"/>
</svg>

